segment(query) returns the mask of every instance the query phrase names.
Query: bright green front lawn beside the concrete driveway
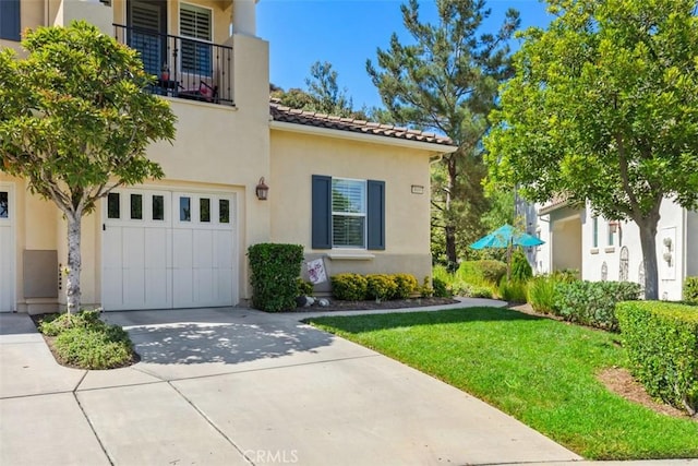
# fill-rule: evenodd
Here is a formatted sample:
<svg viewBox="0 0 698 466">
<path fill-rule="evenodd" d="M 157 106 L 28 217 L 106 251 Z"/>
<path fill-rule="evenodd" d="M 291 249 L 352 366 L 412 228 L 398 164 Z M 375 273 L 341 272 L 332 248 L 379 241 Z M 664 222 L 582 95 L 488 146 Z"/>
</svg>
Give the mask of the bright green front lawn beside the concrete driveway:
<svg viewBox="0 0 698 466">
<path fill-rule="evenodd" d="M 595 379 L 627 363 L 617 335 L 495 308 L 309 322 L 484 399 L 587 458 L 698 456 L 698 422 L 630 403 Z"/>
</svg>

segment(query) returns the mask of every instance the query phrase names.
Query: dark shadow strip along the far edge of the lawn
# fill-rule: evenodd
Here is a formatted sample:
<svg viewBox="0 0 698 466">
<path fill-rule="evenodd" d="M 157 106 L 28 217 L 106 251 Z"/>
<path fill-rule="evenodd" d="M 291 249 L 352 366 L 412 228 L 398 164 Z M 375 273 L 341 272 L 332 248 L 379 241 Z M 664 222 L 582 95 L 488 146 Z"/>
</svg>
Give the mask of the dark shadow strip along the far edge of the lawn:
<svg viewBox="0 0 698 466">
<path fill-rule="evenodd" d="M 547 321 L 549 319 L 503 308 L 464 308 L 446 311 L 405 312 L 372 315 L 310 318 L 309 324 L 330 325 L 346 332 L 366 332 L 406 326 L 488 321 Z"/>
</svg>

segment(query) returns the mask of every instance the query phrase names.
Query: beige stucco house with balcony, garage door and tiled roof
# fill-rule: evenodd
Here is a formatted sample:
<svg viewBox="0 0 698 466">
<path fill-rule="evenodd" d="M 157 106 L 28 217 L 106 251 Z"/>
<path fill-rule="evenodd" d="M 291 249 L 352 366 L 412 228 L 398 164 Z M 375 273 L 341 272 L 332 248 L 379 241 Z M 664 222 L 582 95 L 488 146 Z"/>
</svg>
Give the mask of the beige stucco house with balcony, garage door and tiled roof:
<svg viewBox="0 0 698 466">
<path fill-rule="evenodd" d="M 125 187 L 83 219 L 82 301 L 105 310 L 233 306 L 250 298 L 248 247 L 302 244 L 341 272 L 431 275 L 430 133 L 269 101 L 255 0 L 2 0 L 0 47 L 21 32 L 86 20 L 141 52 L 146 92 L 177 115 L 166 174 Z M 268 191 L 267 191 L 268 188 Z M 65 223 L 0 170 L 0 311 L 64 303 Z M 305 267 L 303 267 L 305 271 Z M 317 284 L 316 291 L 327 291 Z"/>
</svg>

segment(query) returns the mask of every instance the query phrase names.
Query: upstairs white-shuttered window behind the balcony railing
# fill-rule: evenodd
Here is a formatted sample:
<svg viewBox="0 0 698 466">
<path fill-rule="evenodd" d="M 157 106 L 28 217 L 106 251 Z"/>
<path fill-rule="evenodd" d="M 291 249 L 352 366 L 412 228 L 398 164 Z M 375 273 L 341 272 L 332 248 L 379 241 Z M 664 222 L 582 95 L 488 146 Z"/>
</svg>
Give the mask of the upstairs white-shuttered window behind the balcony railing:
<svg viewBox="0 0 698 466">
<path fill-rule="evenodd" d="M 213 27 L 210 10 L 181 3 L 179 9 L 179 31 L 182 37 L 182 72 L 197 76 L 210 76 Z"/>
</svg>

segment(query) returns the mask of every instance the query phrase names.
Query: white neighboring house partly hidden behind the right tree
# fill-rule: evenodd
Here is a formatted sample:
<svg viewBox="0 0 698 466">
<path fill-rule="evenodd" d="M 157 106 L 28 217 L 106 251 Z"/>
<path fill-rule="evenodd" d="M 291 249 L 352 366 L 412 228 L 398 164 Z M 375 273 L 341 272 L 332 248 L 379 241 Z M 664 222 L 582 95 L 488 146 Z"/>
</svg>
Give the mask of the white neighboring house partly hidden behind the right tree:
<svg viewBox="0 0 698 466">
<path fill-rule="evenodd" d="M 519 206 L 545 244 L 529 259 L 537 273 L 577 270 L 582 279 L 635 282 L 645 285 L 639 229 L 633 222 L 594 216 L 589 204 L 573 208 L 563 200 Z M 698 212 L 665 199 L 657 228 L 659 297 L 682 299 L 687 276 L 698 276 Z"/>
</svg>

